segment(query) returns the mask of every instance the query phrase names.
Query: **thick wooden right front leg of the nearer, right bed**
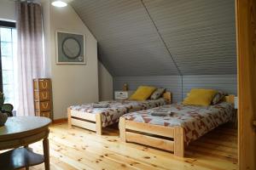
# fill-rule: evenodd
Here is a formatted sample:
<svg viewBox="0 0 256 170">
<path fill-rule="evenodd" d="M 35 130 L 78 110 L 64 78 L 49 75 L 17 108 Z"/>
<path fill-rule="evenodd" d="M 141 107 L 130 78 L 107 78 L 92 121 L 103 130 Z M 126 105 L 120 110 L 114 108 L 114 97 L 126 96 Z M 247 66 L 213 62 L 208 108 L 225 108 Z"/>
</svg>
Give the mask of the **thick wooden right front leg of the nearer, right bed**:
<svg viewBox="0 0 256 170">
<path fill-rule="evenodd" d="M 174 155 L 184 156 L 184 133 L 183 127 L 175 127 L 174 129 Z"/>
</svg>

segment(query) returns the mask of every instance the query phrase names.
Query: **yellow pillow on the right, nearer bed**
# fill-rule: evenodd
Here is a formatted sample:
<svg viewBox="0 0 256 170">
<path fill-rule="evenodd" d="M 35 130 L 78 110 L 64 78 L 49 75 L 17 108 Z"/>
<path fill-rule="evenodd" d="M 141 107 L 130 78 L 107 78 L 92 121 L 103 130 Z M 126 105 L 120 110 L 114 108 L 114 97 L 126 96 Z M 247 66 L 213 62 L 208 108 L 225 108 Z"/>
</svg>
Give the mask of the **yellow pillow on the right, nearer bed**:
<svg viewBox="0 0 256 170">
<path fill-rule="evenodd" d="M 184 105 L 211 105 L 212 99 L 217 94 L 213 89 L 191 89 L 189 96 L 183 100 Z"/>
</svg>

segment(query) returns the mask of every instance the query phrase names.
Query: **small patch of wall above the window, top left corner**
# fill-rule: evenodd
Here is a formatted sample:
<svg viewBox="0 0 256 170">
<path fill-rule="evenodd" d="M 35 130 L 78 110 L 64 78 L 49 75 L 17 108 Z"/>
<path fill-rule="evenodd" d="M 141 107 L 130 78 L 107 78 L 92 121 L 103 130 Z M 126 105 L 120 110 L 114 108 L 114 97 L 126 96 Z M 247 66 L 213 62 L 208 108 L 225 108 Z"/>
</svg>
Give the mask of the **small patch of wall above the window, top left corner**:
<svg viewBox="0 0 256 170">
<path fill-rule="evenodd" d="M 15 20 L 15 1 L 1 0 L 0 20 Z"/>
</svg>

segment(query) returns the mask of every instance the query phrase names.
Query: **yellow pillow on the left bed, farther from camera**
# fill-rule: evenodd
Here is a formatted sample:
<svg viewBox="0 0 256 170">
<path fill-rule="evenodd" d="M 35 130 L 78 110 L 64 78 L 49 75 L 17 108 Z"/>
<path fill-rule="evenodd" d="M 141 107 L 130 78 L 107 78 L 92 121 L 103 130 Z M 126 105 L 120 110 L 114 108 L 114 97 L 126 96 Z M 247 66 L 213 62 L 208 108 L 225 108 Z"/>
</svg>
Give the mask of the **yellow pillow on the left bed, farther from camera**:
<svg viewBox="0 0 256 170">
<path fill-rule="evenodd" d="M 130 99 L 134 100 L 145 100 L 153 94 L 156 88 L 150 86 L 140 86 L 137 88 L 136 92 L 131 95 Z"/>
</svg>

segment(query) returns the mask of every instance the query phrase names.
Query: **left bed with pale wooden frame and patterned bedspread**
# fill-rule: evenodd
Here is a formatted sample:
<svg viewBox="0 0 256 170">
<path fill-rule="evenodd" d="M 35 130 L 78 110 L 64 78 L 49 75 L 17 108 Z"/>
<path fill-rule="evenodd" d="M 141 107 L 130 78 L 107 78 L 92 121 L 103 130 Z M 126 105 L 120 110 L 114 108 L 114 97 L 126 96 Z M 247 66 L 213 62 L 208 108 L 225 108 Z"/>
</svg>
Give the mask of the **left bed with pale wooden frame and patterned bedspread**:
<svg viewBox="0 0 256 170">
<path fill-rule="evenodd" d="M 67 108 L 68 126 L 83 127 L 97 134 L 102 134 L 102 127 L 108 127 L 119 122 L 119 117 L 132 111 L 142 111 L 171 103 L 172 94 L 166 92 L 162 98 L 154 100 L 113 100 L 98 103 L 108 103 L 108 108 L 93 108 L 91 104 L 72 105 Z"/>
</svg>

